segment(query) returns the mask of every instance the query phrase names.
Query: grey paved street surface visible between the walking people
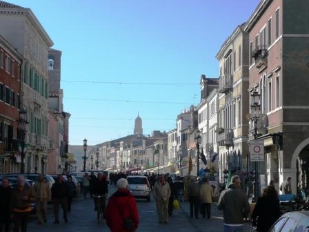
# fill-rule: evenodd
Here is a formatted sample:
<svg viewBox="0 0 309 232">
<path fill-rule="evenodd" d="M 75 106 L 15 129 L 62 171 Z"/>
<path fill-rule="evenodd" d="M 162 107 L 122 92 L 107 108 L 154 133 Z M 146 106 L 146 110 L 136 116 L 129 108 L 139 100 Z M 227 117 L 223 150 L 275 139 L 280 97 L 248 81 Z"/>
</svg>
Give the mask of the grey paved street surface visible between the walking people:
<svg viewBox="0 0 309 232">
<path fill-rule="evenodd" d="M 113 193 L 115 189 L 110 189 Z M 155 209 L 155 202 L 146 202 L 146 200 L 137 200 L 139 206 L 140 224 L 137 231 L 223 231 L 223 217 L 222 212 L 216 209 L 215 204 L 212 205 L 212 218 L 210 220 L 190 218 L 190 209 L 188 202 L 182 202 L 180 209 L 174 211 L 170 222 L 168 224 L 159 224 L 157 220 L 157 212 Z M 52 205 L 48 206 L 48 223 L 37 225 L 35 216 L 32 215 L 30 223 L 28 224 L 28 231 L 109 231 L 105 222 L 98 224 L 96 219 L 96 212 L 92 198 L 83 199 L 82 195 L 75 198 L 72 202 L 72 211 L 68 217 L 68 223 L 64 223 L 60 218 L 60 224 L 52 224 L 54 222 L 54 215 L 52 213 Z M 62 213 L 60 214 L 62 215 Z M 250 224 L 246 224 L 244 231 L 250 231 Z"/>
</svg>

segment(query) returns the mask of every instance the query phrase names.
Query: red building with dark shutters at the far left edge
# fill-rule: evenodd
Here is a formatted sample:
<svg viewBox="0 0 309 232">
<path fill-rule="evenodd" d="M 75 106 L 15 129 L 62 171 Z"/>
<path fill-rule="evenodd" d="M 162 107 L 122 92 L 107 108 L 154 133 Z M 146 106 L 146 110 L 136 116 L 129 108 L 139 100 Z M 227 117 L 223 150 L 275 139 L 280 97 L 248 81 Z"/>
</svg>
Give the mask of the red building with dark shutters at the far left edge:
<svg viewBox="0 0 309 232">
<path fill-rule="evenodd" d="M 21 166 L 19 110 L 23 58 L 0 36 L 0 173 L 19 172 Z"/>
</svg>

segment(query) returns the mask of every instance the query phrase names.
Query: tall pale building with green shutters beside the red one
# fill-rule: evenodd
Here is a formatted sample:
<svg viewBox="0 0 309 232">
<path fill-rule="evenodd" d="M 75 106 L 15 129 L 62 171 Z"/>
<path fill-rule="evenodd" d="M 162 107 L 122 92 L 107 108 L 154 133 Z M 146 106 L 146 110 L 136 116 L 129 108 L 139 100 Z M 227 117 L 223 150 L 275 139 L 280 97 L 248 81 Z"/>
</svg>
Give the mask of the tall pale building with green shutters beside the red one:
<svg viewBox="0 0 309 232">
<path fill-rule="evenodd" d="M 46 172 L 48 138 L 48 69 L 52 40 L 32 11 L 0 1 L 0 31 L 23 56 L 21 109 L 27 111 L 25 171 Z"/>
</svg>

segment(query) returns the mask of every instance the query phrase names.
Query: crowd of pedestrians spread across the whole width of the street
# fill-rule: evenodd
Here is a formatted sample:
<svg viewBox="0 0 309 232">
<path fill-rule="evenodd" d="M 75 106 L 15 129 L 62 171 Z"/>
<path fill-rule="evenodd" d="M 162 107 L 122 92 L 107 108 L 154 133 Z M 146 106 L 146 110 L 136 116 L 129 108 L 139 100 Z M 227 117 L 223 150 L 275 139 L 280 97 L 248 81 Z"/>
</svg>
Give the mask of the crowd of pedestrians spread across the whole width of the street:
<svg viewBox="0 0 309 232">
<path fill-rule="evenodd" d="M 190 217 L 211 218 L 211 205 L 214 197 L 214 188 L 208 183 L 208 177 L 190 177 L 190 182 L 184 186 L 183 177 L 175 177 L 172 180 L 168 174 L 145 174 L 148 177 L 152 195 L 157 206 L 158 222 L 168 224 L 172 217 L 174 202 L 182 202 L 183 190 L 186 188 L 186 197 L 190 204 Z M 57 180 L 50 184 L 40 174 L 33 187 L 25 184 L 23 176 L 17 177 L 17 185 L 10 188 L 10 180 L 3 177 L 0 187 L 0 231 L 26 231 L 27 219 L 31 213 L 31 202 L 35 202 L 37 224 L 47 223 L 47 205 L 52 201 L 54 209 L 54 224 L 59 224 L 59 209 L 63 211 L 63 220 L 68 222 L 68 213 L 72 208 L 73 190 L 75 188 L 72 177 L 67 176 L 68 181 L 63 180 L 63 175 L 57 175 Z M 108 177 L 103 173 L 83 175 L 83 197 L 100 196 L 101 210 L 106 219 L 110 231 L 134 231 L 139 225 L 139 213 L 137 203 L 131 192 L 128 191 L 126 173 L 111 173 L 110 185 L 117 186 L 106 204 L 108 195 Z M 281 184 L 280 191 L 284 194 L 291 192 L 291 178 Z M 217 209 L 223 211 L 224 231 L 243 231 L 243 222 L 250 213 L 248 196 L 241 189 L 241 178 L 233 175 L 231 182 L 221 192 Z M 97 204 L 94 202 L 94 210 Z M 281 215 L 279 197 L 273 181 L 263 189 L 258 197 L 254 210 L 251 212 L 252 222 L 257 226 L 257 231 L 268 231 L 272 224 Z M 122 222 L 122 223 L 119 223 Z M 130 229 L 127 227 L 131 226 Z"/>
</svg>

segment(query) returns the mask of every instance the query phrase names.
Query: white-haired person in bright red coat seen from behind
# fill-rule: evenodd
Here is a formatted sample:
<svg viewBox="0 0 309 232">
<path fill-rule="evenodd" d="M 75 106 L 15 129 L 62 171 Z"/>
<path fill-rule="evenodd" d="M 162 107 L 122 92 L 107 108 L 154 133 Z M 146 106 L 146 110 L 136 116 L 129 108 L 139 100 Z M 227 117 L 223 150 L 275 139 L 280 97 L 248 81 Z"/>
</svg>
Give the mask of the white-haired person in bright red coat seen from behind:
<svg viewBox="0 0 309 232">
<path fill-rule="evenodd" d="M 139 226 L 139 211 L 137 202 L 127 189 L 128 181 L 121 178 L 117 181 L 118 190 L 110 196 L 106 209 L 106 224 L 111 232 L 127 232 L 125 219 L 130 218 L 134 222 L 135 231 Z"/>
</svg>

